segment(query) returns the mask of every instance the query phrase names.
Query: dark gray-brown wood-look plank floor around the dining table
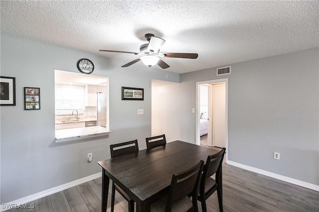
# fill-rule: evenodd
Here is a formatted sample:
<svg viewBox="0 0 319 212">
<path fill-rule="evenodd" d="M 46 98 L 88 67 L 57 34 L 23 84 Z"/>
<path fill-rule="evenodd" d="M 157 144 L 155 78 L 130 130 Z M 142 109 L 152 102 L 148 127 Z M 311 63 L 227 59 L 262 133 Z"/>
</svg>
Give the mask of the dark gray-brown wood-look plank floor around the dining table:
<svg viewBox="0 0 319 212">
<path fill-rule="evenodd" d="M 98 178 L 32 201 L 34 209 L 7 212 L 101 212 L 101 182 Z M 108 212 L 110 200 L 111 193 Z M 208 212 L 219 211 L 216 193 L 206 203 Z M 223 206 L 225 212 L 318 212 L 319 192 L 223 164 Z M 128 212 L 128 203 L 117 192 L 115 212 Z"/>
</svg>

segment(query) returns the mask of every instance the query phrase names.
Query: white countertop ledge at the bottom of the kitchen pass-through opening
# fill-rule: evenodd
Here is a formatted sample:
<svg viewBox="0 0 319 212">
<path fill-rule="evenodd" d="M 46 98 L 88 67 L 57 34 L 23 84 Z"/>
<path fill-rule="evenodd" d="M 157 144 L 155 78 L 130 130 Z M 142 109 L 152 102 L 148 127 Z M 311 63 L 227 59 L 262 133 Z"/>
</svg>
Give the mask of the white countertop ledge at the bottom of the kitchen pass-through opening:
<svg viewBox="0 0 319 212">
<path fill-rule="evenodd" d="M 109 133 L 111 133 L 111 131 L 102 126 L 56 130 L 55 142 L 105 136 Z"/>
</svg>

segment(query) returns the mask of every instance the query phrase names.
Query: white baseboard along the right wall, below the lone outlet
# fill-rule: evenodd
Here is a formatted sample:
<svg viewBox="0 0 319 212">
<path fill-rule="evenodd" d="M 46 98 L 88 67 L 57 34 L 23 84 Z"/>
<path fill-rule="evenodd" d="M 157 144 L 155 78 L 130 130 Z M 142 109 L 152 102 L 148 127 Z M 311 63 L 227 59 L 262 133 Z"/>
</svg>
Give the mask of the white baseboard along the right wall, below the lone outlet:
<svg viewBox="0 0 319 212">
<path fill-rule="evenodd" d="M 232 166 L 236 166 L 236 167 L 239 167 L 239 168 L 242 168 L 242 169 L 246 169 L 248 171 L 252 171 L 252 172 L 255 172 L 255 173 L 258 173 L 258 174 L 262 174 L 262 175 L 265 175 L 265 176 L 268 176 L 268 177 L 272 177 L 272 178 L 275 178 L 275 179 L 278 179 L 278 180 L 282 180 L 282 181 L 285 181 L 287 183 L 291 183 L 291 184 L 302 186 L 302 187 L 305 187 L 305 188 L 308 188 L 308 189 L 311 189 L 311 190 L 319 191 L 319 185 L 307 183 L 307 182 L 304 182 L 304 181 L 301 181 L 301 180 L 296 180 L 296 179 L 293 179 L 293 178 L 290 178 L 290 177 L 286 177 L 286 176 L 283 176 L 283 175 L 275 174 L 275 173 L 272 173 L 272 172 L 269 172 L 269 171 L 265 171 L 265 170 L 258 169 L 258 168 L 255 168 L 255 167 L 247 166 L 247 165 L 244 165 L 244 164 L 241 164 L 241 163 L 236 163 L 236 162 L 233 162 L 233 161 L 230 161 L 230 160 L 227 160 L 227 164 L 232 165 Z"/>
</svg>

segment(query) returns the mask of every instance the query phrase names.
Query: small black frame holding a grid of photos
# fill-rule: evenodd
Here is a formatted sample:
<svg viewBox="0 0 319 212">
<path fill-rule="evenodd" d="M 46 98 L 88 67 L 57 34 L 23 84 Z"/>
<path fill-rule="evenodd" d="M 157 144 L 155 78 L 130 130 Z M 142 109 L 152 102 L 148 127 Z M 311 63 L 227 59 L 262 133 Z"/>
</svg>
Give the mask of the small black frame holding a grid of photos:
<svg viewBox="0 0 319 212">
<path fill-rule="evenodd" d="M 24 87 L 24 110 L 40 110 L 40 88 Z"/>
</svg>

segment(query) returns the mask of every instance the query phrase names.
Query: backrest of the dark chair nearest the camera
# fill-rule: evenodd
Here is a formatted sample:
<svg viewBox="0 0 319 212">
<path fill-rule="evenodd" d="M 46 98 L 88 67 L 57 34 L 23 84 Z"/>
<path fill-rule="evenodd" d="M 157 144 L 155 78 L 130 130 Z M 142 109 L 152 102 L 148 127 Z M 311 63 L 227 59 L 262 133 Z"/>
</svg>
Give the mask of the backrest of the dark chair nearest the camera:
<svg viewBox="0 0 319 212">
<path fill-rule="evenodd" d="M 165 212 L 170 212 L 172 204 L 191 194 L 193 209 L 197 209 L 198 183 L 204 161 L 200 160 L 194 167 L 178 174 L 173 174 L 169 187 Z"/>
</svg>

